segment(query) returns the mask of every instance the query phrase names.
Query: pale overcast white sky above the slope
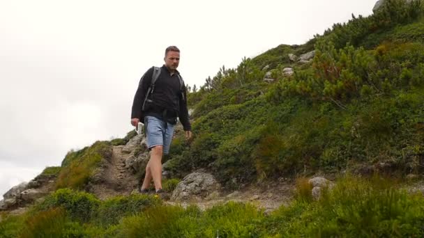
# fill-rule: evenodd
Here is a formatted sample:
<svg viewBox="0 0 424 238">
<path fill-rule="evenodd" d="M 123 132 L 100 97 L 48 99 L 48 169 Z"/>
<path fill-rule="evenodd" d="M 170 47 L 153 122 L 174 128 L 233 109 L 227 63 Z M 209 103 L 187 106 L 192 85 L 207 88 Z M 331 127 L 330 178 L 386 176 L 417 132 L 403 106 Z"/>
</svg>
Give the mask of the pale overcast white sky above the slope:
<svg viewBox="0 0 424 238">
<path fill-rule="evenodd" d="M 130 132 L 142 74 L 181 50 L 197 88 L 281 44 L 301 45 L 372 0 L 0 0 L 0 199 L 69 150 Z"/>
</svg>

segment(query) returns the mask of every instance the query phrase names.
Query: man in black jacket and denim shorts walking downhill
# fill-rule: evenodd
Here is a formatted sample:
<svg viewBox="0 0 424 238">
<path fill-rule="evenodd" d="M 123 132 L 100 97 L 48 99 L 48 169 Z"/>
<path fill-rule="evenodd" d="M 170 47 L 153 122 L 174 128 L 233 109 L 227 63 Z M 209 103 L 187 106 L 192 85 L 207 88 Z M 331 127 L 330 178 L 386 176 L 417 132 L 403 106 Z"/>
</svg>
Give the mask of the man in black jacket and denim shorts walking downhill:
<svg viewBox="0 0 424 238">
<path fill-rule="evenodd" d="M 137 127 L 138 122 L 144 122 L 146 143 L 151 150 L 144 182 L 141 189 L 139 188 L 141 193 L 147 192 L 152 179 L 156 194 L 163 192 L 162 154 L 169 153 L 177 117 L 184 127 L 185 137 L 192 137 L 185 86 L 181 86 L 181 76 L 176 70 L 180 61 L 180 50 L 175 46 L 167 47 L 164 60 L 165 65 L 160 68 L 159 77 L 151 93 L 146 95 L 151 86 L 154 68 L 147 70 L 140 79 L 132 103 L 131 124 Z"/>
</svg>

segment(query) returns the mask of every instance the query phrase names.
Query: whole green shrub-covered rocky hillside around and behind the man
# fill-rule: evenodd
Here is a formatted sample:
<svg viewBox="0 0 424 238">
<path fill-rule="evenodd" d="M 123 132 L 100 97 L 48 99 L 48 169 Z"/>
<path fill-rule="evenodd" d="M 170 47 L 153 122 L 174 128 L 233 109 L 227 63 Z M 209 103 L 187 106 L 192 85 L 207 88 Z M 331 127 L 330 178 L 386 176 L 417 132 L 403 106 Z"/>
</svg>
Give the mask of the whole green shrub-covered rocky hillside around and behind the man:
<svg viewBox="0 0 424 238">
<path fill-rule="evenodd" d="M 385 1 L 222 67 L 190 89 L 195 138 L 176 129 L 169 198 L 137 193 L 149 152 L 129 132 L 10 191 L 0 236 L 422 237 L 423 16 Z"/>
</svg>

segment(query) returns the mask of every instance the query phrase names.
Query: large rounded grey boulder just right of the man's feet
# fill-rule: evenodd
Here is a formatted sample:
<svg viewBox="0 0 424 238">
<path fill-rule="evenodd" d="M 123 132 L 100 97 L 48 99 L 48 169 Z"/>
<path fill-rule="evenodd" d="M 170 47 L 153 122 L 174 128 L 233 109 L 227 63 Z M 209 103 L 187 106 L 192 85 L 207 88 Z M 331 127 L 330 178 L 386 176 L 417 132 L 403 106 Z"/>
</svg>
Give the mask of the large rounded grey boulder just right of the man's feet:
<svg viewBox="0 0 424 238">
<path fill-rule="evenodd" d="M 172 201 L 190 200 L 192 198 L 206 198 L 209 194 L 218 191 L 220 184 L 209 173 L 190 173 L 179 182 L 172 193 Z"/>
</svg>

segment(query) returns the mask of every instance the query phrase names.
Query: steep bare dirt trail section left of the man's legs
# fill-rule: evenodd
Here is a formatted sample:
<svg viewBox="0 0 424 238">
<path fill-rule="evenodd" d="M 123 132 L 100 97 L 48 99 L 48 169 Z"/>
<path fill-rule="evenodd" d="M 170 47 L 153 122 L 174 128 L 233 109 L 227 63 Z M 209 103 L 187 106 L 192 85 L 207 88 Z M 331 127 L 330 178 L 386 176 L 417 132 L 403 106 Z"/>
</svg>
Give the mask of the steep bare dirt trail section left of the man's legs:
<svg viewBox="0 0 424 238">
<path fill-rule="evenodd" d="M 123 145 L 114 146 L 112 160 L 104 162 L 102 181 L 93 185 L 91 192 L 100 200 L 105 200 L 113 196 L 128 196 L 134 189 L 137 189 L 137 179 L 135 175 L 125 168 L 125 161 L 130 154 L 122 152 Z"/>
</svg>

